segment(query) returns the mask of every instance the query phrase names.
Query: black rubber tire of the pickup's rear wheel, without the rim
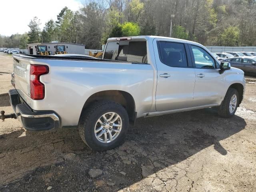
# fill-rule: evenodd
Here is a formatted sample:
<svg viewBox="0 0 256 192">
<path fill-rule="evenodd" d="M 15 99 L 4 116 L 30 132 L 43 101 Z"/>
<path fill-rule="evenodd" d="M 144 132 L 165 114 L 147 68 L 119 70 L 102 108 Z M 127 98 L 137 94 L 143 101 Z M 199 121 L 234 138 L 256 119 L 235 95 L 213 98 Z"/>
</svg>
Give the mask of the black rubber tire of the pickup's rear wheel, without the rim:
<svg viewBox="0 0 256 192">
<path fill-rule="evenodd" d="M 120 116 L 122 119 L 122 129 L 118 137 L 116 137 L 112 142 L 102 143 L 96 139 L 94 127 L 98 119 L 108 112 L 115 112 Z M 112 101 L 94 102 L 82 112 L 78 123 L 80 137 L 86 145 L 95 151 L 110 150 L 122 144 L 128 127 L 129 118 L 127 111 L 122 105 Z"/>
</svg>

